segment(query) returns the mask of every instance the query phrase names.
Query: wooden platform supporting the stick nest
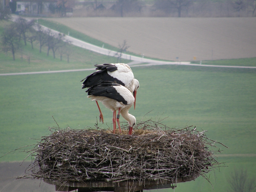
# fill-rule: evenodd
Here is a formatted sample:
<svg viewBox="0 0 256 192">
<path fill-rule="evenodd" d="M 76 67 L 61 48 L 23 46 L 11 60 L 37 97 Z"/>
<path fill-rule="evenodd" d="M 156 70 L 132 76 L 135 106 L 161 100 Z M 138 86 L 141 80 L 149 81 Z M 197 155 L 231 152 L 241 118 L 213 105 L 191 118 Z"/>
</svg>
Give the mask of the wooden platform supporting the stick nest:
<svg viewBox="0 0 256 192">
<path fill-rule="evenodd" d="M 121 181 L 121 182 L 84 182 L 84 183 L 65 183 L 61 184 L 59 182 L 53 182 L 51 180 L 44 179 L 44 182 L 55 185 L 56 191 L 73 191 L 78 190 L 78 192 L 95 192 L 95 191 L 114 191 L 114 192 L 142 192 L 143 189 L 162 189 L 162 188 L 172 188 L 174 189 L 175 183 L 186 182 L 195 180 L 198 175 L 193 177 L 182 177 L 178 178 L 175 182 L 167 180 L 158 181 Z"/>
</svg>

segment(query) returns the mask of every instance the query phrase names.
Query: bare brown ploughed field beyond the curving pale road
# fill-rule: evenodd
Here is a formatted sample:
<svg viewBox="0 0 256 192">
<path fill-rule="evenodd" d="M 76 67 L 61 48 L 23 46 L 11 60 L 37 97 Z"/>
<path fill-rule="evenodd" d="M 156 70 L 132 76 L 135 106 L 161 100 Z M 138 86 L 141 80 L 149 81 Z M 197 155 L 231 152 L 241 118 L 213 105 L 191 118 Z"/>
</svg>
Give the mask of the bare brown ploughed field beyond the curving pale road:
<svg viewBox="0 0 256 192">
<path fill-rule="evenodd" d="M 165 60 L 256 57 L 256 18 L 49 18 L 128 51 Z"/>
</svg>

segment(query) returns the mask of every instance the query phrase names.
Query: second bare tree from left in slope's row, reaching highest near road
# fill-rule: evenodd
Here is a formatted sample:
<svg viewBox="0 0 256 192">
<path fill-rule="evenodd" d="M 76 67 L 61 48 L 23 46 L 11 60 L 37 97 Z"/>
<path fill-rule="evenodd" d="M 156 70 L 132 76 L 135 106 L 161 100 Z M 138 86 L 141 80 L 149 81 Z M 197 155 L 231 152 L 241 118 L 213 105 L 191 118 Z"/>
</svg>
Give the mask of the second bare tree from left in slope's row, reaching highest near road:
<svg viewBox="0 0 256 192">
<path fill-rule="evenodd" d="M 20 38 L 23 38 L 24 44 L 27 45 L 27 43 L 26 43 L 26 39 L 27 39 L 26 33 L 29 29 L 32 28 L 35 21 L 34 20 L 27 21 L 27 20 L 20 17 L 19 19 L 16 20 L 16 23 L 17 23 L 16 28 L 17 28 L 17 31 L 20 35 Z"/>
</svg>

